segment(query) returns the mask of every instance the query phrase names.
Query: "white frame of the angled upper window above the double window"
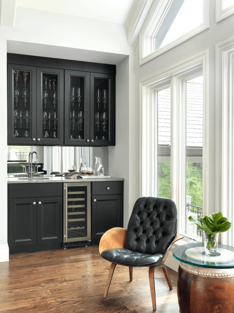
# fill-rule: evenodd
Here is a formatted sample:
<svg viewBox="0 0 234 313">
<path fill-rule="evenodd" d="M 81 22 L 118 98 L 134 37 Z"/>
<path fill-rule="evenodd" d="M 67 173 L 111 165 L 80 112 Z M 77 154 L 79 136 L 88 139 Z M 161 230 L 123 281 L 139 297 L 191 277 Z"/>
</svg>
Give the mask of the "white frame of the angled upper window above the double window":
<svg viewBox="0 0 234 313">
<path fill-rule="evenodd" d="M 173 3 L 173 0 L 154 0 L 147 18 L 142 26 L 139 34 L 140 45 L 140 65 L 149 62 L 160 54 L 172 49 L 173 47 L 181 44 L 185 40 L 201 33 L 203 30 L 209 28 L 209 0 L 203 0 L 203 23 L 192 29 L 188 33 L 183 34 L 179 38 L 176 38 L 167 45 L 154 50 L 155 47 L 155 35 L 160 28 L 168 10 Z"/>
</svg>

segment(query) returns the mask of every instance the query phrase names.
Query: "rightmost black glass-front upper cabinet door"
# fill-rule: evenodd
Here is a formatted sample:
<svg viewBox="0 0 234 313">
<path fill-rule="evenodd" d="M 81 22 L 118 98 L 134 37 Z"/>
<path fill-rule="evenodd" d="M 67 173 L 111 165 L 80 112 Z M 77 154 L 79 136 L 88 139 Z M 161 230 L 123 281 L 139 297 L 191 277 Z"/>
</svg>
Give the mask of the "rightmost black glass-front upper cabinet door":
<svg viewBox="0 0 234 313">
<path fill-rule="evenodd" d="M 115 145 L 115 75 L 90 73 L 90 145 Z"/>
</svg>

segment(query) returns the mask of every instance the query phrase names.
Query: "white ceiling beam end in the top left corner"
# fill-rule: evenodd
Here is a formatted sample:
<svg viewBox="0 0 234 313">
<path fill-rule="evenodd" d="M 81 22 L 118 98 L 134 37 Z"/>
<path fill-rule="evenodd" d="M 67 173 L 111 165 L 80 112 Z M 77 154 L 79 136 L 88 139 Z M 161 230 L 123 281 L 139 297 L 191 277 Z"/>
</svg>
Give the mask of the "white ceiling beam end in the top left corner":
<svg viewBox="0 0 234 313">
<path fill-rule="evenodd" d="M 0 0 L 0 26 L 14 27 L 18 0 Z"/>
</svg>

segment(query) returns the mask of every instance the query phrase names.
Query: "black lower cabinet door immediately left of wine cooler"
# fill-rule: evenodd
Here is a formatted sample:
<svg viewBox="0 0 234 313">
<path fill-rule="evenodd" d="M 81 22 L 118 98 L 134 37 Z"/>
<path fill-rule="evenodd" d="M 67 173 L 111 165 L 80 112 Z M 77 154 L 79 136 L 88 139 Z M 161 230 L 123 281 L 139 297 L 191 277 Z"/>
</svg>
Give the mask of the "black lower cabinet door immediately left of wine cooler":
<svg viewBox="0 0 234 313">
<path fill-rule="evenodd" d="M 62 242 L 62 221 L 62 197 L 37 198 L 37 244 Z"/>
</svg>

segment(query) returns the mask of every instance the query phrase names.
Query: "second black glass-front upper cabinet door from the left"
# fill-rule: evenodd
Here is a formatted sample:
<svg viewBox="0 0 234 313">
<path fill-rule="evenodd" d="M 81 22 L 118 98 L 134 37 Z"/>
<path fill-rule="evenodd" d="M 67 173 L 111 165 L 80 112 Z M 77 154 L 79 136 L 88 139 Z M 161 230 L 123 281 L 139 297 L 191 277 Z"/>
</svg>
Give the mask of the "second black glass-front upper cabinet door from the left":
<svg viewBox="0 0 234 313">
<path fill-rule="evenodd" d="M 37 144 L 63 145 L 64 70 L 37 67 Z"/>
</svg>

